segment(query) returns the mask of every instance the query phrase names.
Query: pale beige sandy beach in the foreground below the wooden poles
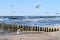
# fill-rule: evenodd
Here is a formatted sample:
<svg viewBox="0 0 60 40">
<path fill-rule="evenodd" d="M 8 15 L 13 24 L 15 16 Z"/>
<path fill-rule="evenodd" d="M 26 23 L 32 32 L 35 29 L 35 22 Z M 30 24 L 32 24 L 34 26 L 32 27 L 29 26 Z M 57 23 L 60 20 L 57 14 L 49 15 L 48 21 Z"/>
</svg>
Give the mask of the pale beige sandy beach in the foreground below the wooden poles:
<svg viewBox="0 0 60 40">
<path fill-rule="evenodd" d="M 41 32 L 36 34 L 4 34 L 0 35 L 0 40 L 60 40 L 60 31 L 58 32 Z"/>
</svg>

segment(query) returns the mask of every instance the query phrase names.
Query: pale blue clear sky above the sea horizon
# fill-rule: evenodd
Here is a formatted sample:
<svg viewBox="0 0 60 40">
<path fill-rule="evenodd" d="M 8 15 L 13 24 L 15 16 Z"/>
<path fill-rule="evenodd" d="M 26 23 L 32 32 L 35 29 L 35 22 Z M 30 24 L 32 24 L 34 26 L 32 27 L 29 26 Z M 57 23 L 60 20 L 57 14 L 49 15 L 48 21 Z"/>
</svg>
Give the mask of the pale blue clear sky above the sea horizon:
<svg viewBox="0 0 60 40">
<path fill-rule="evenodd" d="M 0 0 L 0 16 L 60 16 L 60 0 Z"/>
</svg>

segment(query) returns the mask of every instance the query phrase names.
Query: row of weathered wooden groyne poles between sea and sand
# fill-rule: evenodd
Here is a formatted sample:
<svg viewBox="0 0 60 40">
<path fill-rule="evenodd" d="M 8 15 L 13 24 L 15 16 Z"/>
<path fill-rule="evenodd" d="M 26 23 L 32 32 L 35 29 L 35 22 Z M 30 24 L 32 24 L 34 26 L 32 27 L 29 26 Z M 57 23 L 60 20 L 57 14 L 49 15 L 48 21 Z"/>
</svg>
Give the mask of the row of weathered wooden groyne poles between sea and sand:
<svg viewBox="0 0 60 40">
<path fill-rule="evenodd" d="M 44 32 L 54 32 L 59 31 L 59 28 L 50 28 L 50 27 L 39 27 L 39 26 L 24 26 L 18 24 L 3 24 L 0 23 L 0 28 L 3 28 L 7 31 L 16 32 L 18 29 L 21 31 L 44 31 Z"/>
</svg>

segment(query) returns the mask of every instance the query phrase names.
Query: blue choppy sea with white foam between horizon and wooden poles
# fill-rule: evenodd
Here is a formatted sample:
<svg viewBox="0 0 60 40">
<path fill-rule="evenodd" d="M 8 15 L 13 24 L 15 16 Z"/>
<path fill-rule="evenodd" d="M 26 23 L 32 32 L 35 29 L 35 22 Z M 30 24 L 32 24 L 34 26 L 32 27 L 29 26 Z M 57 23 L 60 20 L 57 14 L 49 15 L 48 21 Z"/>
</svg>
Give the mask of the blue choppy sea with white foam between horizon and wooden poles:
<svg viewBox="0 0 60 40">
<path fill-rule="evenodd" d="M 0 16 L 0 23 L 27 26 L 60 25 L 60 16 Z"/>
</svg>

